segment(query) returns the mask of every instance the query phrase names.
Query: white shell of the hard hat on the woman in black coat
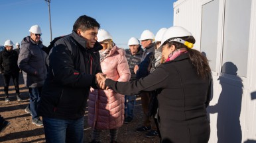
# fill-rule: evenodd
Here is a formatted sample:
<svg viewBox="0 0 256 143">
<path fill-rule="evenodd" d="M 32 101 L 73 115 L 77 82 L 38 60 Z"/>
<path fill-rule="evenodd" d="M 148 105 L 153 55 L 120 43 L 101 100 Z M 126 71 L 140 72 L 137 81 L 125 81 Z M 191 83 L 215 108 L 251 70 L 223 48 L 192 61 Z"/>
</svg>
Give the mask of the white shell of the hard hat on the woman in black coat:
<svg viewBox="0 0 256 143">
<path fill-rule="evenodd" d="M 180 26 L 172 26 L 168 28 L 164 34 L 162 35 L 162 40 L 159 48 L 157 49 L 158 51 L 162 51 L 162 44 L 166 42 L 166 40 L 169 40 L 170 38 L 178 38 L 178 40 L 181 40 L 180 37 L 186 37 L 186 36 L 192 36 L 192 34 L 186 30 L 183 27 Z M 176 41 L 176 40 L 175 40 Z M 178 41 L 177 41 L 178 42 Z M 182 40 L 180 43 L 184 43 L 185 41 Z"/>
</svg>

